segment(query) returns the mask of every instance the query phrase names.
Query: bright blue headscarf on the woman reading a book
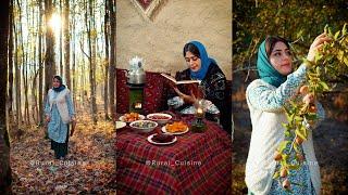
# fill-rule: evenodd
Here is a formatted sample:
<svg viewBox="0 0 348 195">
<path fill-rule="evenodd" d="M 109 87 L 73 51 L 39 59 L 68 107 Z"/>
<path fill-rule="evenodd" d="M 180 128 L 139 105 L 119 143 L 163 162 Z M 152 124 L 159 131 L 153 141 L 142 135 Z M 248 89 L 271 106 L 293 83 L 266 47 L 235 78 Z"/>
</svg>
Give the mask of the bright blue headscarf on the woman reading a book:
<svg viewBox="0 0 348 195">
<path fill-rule="evenodd" d="M 199 54 L 200 54 L 200 62 L 201 62 L 201 66 L 200 69 L 198 72 L 192 72 L 190 69 L 190 75 L 192 79 L 199 79 L 199 80 L 203 80 L 203 78 L 207 75 L 208 68 L 210 66 L 211 63 L 216 64 L 215 60 L 210 58 L 208 56 L 208 53 L 206 51 L 206 48 L 202 43 L 198 42 L 198 41 L 191 41 L 189 43 L 192 43 L 197 47 Z"/>
</svg>

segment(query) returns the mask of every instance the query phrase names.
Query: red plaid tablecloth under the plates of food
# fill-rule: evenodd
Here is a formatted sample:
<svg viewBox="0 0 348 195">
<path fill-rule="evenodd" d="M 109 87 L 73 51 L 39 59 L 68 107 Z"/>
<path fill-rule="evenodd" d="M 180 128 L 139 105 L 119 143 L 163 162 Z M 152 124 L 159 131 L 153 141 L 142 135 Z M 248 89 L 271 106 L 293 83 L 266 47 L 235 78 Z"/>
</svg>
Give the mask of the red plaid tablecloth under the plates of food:
<svg viewBox="0 0 348 195">
<path fill-rule="evenodd" d="M 190 123 L 190 119 L 183 119 Z M 128 126 L 116 132 L 117 194 L 231 194 L 232 141 L 216 123 L 203 133 L 176 135 L 172 145 L 149 143 Z"/>
</svg>

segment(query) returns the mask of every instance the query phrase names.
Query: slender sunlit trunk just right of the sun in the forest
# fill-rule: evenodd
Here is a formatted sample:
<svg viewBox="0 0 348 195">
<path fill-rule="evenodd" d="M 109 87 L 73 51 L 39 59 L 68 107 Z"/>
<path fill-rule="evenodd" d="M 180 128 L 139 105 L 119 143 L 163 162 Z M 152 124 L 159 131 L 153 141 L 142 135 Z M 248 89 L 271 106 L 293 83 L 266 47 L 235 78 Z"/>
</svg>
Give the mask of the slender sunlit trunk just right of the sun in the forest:
<svg viewBox="0 0 348 195">
<path fill-rule="evenodd" d="M 70 26 L 70 21 L 69 21 L 69 11 L 70 11 L 70 0 L 65 0 L 64 4 L 64 60 L 65 60 L 65 79 L 66 82 L 65 84 L 71 88 L 71 77 L 70 77 L 70 31 L 69 31 L 69 26 Z"/>
</svg>

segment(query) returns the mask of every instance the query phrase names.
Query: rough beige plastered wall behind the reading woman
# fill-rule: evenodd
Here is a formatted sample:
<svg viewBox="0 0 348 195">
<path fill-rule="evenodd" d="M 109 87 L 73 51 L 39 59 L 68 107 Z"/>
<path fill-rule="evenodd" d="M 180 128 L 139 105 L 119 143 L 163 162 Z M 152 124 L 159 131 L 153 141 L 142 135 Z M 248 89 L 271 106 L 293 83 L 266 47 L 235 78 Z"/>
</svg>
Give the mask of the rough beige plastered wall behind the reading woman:
<svg viewBox="0 0 348 195">
<path fill-rule="evenodd" d="M 128 68 L 135 55 L 145 69 L 174 75 L 187 68 L 183 47 L 201 41 L 227 79 L 232 79 L 232 1 L 163 0 L 152 21 L 132 0 L 116 2 L 116 66 Z"/>
</svg>

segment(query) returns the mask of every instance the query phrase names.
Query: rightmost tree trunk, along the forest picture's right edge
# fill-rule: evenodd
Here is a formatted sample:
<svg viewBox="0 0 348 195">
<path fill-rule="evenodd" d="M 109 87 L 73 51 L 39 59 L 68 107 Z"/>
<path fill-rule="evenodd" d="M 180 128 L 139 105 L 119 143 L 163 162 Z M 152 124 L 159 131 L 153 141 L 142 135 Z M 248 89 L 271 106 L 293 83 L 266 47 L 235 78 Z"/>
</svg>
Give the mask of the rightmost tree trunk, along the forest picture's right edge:
<svg viewBox="0 0 348 195">
<path fill-rule="evenodd" d="M 116 56 L 116 4 L 114 0 L 109 0 L 110 9 L 110 69 L 109 69 L 109 96 L 110 96 L 110 113 L 114 113 L 115 104 L 115 56 Z"/>
</svg>

